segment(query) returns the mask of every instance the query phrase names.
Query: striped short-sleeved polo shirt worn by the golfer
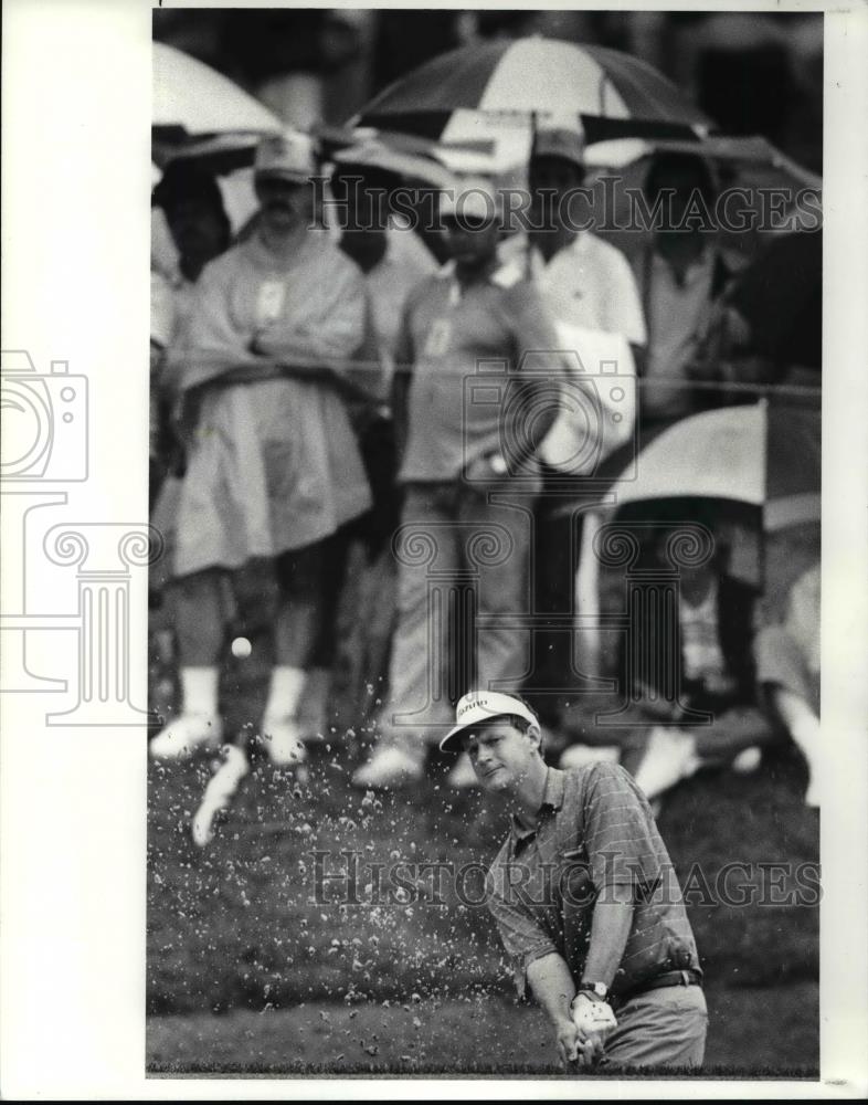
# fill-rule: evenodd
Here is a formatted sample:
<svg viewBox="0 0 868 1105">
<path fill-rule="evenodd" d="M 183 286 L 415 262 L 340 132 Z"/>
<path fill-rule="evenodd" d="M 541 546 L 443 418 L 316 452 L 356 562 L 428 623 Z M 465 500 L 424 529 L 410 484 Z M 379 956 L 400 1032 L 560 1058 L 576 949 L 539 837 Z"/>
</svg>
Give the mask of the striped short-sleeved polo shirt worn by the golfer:
<svg viewBox="0 0 868 1105">
<path fill-rule="evenodd" d="M 665 971 L 699 970 L 675 869 L 632 777 L 616 764 L 549 768 L 536 828 L 514 820 L 486 885 L 519 994 L 528 966 L 552 951 L 581 979 L 594 905 L 615 885 L 633 886 L 634 914 L 613 994 Z"/>
</svg>

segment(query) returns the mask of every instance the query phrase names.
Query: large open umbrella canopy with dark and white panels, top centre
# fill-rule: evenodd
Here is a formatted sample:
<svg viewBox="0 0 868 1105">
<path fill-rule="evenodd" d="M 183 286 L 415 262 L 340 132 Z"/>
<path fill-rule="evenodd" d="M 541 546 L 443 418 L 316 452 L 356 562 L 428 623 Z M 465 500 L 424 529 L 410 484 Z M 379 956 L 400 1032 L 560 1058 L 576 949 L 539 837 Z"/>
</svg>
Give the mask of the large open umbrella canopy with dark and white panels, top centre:
<svg viewBox="0 0 868 1105">
<path fill-rule="evenodd" d="M 711 120 L 655 69 L 604 46 L 540 36 L 454 50 L 392 84 L 361 112 L 362 126 L 438 137 L 453 112 L 536 113 L 581 123 L 588 141 L 690 137 Z"/>
</svg>

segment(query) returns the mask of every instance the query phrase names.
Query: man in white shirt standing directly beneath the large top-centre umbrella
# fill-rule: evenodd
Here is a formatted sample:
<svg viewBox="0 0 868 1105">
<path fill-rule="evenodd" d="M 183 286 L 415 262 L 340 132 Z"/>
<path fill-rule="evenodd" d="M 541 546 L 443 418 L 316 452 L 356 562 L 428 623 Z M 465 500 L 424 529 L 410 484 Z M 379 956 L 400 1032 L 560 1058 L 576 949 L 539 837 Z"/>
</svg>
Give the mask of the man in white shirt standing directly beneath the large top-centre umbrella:
<svg viewBox="0 0 868 1105">
<path fill-rule="evenodd" d="M 541 130 L 536 136 L 529 170 L 531 197 L 532 271 L 552 315 L 561 348 L 588 350 L 582 335 L 589 330 L 618 335 L 628 343 L 634 360 L 641 362 L 645 345 L 645 320 L 633 271 L 620 250 L 588 231 L 570 224 L 574 211 L 571 194 L 584 182 L 584 150 L 578 134 Z M 590 335 L 588 335 L 590 337 Z M 613 346 L 617 349 L 617 345 Z M 626 347 L 624 347 L 626 355 Z M 623 361 L 627 356 L 622 358 Z M 596 365 L 583 365 L 595 372 Z M 622 362 L 620 371 L 633 375 L 634 366 Z M 612 423 L 614 424 L 614 423 Z M 627 424 L 625 420 L 625 425 Z M 559 457 L 586 455 L 584 439 L 596 430 L 585 410 L 571 417 L 558 414 L 555 427 L 542 443 L 542 491 L 537 501 L 534 540 L 537 609 L 567 614 L 572 609 L 578 550 L 581 548 L 581 516 L 564 509 L 563 475 L 574 474 Z M 631 427 L 632 429 L 632 427 Z M 555 445 L 557 441 L 557 445 Z M 581 472 L 581 470 L 579 470 Z M 593 473 L 591 473 L 593 474 Z M 560 494 L 546 494 L 560 492 Z M 578 525 L 576 525 L 578 524 Z M 544 550 L 544 555 L 543 554 Z M 569 640 L 563 633 L 539 642 L 541 667 L 534 674 L 543 685 L 563 685 L 570 671 Z"/>
</svg>

